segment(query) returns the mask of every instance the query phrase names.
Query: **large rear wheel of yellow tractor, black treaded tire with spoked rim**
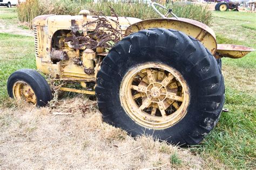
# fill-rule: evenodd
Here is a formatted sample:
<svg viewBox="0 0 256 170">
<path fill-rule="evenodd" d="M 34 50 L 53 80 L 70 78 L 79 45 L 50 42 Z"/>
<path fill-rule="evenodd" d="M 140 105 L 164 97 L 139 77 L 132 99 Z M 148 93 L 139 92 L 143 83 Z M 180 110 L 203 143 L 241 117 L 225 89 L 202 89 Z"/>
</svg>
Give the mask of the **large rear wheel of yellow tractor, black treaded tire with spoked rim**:
<svg viewBox="0 0 256 170">
<path fill-rule="evenodd" d="M 149 66 L 153 68 L 149 69 Z M 155 72 L 158 75 L 165 74 L 166 77 L 175 75 L 168 87 L 171 87 L 171 82 L 178 82 L 181 84 L 179 88 L 184 89 L 181 90 L 181 96 L 176 96 L 182 103 L 178 102 L 178 99 L 174 99 L 174 102 L 171 100 L 173 110 L 168 110 L 168 114 L 162 114 L 161 102 L 157 103 L 157 112 L 154 111 L 153 114 L 155 103 L 146 103 L 149 98 L 155 99 L 154 97 L 161 97 L 164 93 L 157 93 L 157 84 L 168 82 L 161 77 L 156 78 Z M 156 84 L 153 88 L 151 85 L 140 86 L 141 83 L 153 82 L 150 80 L 152 77 Z M 148 81 L 143 82 L 144 79 Z M 139 85 L 134 85 L 137 81 L 140 82 Z M 146 95 L 138 93 L 142 97 L 137 101 L 126 100 L 135 96 L 132 95 L 134 91 L 138 92 L 134 90 L 138 90 L 137 86 L 150 89 L 150 95 L 147 94 L 149 90 L 142 88 L 140 90 L 146 91 Z M 130 87 L 132 88 L 129 90 Z M 164 89 L 163 85 L 162 87 L 160 90 Z M 127 36 L 110 50 L 97 74 L 96 96 L 103 120 L 126 130 L 132 137 L 146 134 L 171 144 L 187 146 L 198 144 L 218 122 L 225 100 L 224 90 L 224 79 L 217 61 L 197 39 L 176 30 L 150 29 Z M 160 97 L 158 101 L 161 100 Z M 152 115 L 147 114 L 150 110 L 142 110 L 146 105 L 149 108 L 151 104 Z M 127 105 L 136 107 L 129 108 Z M 176 112 L 181 113 L 181 116 L 175 117 Z M 139 114 L 148 116 L 141 119 Z M 168 119 L 170 121 L 163 124 L 151 119 L 156 117 L 156 120 L 163 118 L 165 121 L 169 116 L 174 119 Z"/>
</svg>

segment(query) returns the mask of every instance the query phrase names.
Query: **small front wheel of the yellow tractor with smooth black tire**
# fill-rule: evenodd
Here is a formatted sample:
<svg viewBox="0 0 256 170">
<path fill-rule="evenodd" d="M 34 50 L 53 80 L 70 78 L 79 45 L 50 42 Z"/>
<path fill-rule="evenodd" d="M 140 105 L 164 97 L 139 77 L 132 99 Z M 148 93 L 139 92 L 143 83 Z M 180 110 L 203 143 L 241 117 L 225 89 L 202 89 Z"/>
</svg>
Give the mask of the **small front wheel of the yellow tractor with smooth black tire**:
<svg viewBox="0 0 256 170">
<path fill-rule="evenodd" d="M 37 107 L 44 107 L 52 100 L 52 91 L 48 82 L 44 77 L 33 69 L 19 69 L 9 76 L 7 82 L 8 94 L 12 98 L 21 98 L 27 100 L 22 93 L 15 93 L 16 84 L 22 90 L 24 86 L 31 88 L 32 94 L 35 95 L 35 102 L 33 104 Z M 19 95 L 20 94 L 20 95 Z"/>
</svg>

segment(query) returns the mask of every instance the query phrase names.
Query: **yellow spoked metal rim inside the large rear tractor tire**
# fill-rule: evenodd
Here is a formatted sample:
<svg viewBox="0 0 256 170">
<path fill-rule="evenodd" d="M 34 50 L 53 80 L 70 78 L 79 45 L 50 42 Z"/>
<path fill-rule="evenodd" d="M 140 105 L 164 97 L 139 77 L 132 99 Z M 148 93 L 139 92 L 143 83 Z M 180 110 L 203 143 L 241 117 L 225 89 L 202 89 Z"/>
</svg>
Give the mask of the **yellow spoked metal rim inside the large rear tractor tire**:
<svg viewBox="0 0 256 170">
<path fill-rule="evenodd" d="M 161 63 L 146 63 L 126 73 L 120 87 L 120 101 L 138 124 L 165 129 L 186 115 L 188 90 L 176 69 Z"/>
</svg>

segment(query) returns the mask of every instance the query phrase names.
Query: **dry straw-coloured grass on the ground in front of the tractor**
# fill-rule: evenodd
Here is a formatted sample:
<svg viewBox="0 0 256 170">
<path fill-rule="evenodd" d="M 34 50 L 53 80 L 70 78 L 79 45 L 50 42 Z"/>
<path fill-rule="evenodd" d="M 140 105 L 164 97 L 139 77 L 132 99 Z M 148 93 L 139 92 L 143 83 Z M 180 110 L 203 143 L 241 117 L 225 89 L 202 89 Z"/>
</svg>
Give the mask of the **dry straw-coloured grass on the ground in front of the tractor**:
<svg viewBox="0 0 256 170">
<path fill-rule="evenodd" d="M 95 102 L 81 98 L 59 101 L 53 109 L 10 100 L 0 109 L 0 127 L 2 168 L 206 166 L 189 150 L 151 137 L 133 139 L 125 131 L 103 123 Z M 173 161 L 180 163 L 171 164 Z"/>
</svg>

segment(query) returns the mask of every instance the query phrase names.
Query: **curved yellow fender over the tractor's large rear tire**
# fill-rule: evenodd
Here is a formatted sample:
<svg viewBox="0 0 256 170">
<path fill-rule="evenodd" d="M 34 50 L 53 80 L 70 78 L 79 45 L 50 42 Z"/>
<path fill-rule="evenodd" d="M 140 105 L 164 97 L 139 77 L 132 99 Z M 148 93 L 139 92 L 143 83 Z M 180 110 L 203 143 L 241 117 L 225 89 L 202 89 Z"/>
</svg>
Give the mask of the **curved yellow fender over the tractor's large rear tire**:
<svg viewBox="0 0 256 170">
<path fill-rule="evenodd" d="M 207 25 L 193 19 L 146 19 L 130 25 L 125 31 L 125 36 L 128 36 L 134 32 L 138 32 L 139 30 L 152 28 L 165 28 L 184 32 L 188 36 L 192 36 L 199 40 L 213 55 L 216 52 L 217 42 L 214 31 Z"/>
</svg>

